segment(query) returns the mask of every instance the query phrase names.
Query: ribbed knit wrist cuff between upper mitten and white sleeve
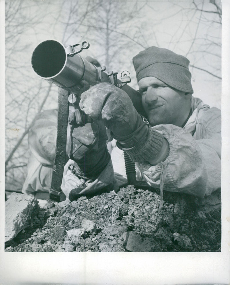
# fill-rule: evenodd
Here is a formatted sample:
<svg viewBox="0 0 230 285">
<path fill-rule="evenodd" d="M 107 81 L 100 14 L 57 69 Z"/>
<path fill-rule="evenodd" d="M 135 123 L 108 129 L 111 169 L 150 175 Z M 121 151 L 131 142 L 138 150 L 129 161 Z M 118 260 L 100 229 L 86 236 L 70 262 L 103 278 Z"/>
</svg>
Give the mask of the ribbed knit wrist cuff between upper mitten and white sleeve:
<svg viewBox="0 0 230 285">
<path fill-rule="evenodd" d="M 143 162 L 156 157 L 163 144 L 164 137 L 149 127 L 147 136 L 131 150 L 126 150 L 134 162 Z"/>
</svg>

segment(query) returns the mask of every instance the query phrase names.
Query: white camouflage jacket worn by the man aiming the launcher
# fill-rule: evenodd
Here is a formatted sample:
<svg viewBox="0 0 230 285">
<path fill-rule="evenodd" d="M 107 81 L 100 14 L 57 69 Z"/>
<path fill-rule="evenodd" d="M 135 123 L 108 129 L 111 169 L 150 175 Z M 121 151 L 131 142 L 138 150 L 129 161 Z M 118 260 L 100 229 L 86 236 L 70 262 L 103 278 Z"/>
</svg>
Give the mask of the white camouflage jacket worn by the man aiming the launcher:
<svg viewBox="0 0 230 285">
<path fill-rule="evenodd" d="M 148 162 L 136 163 L 137 180 L 161 188 L 162 192 L 164 189 L 203 198 L 221 187 L 221 110 L 210 108 L 194 97 L 191 108 L 193 113 L 183 128 L 175 125 L 153 127 L 168 140 L 170 152 L 166 160 L 156 166 Z M 67 162 L 61 187 L 67 198 L 71 190 L 77 187 L 81 189 L 80 194 L 87 194 L 108 185 L 111 190 L 116 190 L 118 185 L 125 183 L 123 152 L 116 147 L 115 140 L 108 143 L 108 149 L 112 162 L 95 181 L 85 183 L 78 179 L 68 169 L 69 164 L 74 162 Z M 47 168 L 47 171 L 50 172 L 51 168 Z M 31 191 L 28 184 L 35 185 L 33 191 L 37 191 L 34 179 L 37 179 L 36 175 L 25 181 L 24 193 L 28 193 L 28 188 Z M 43 180 L 40 178 L 39 181 Z M 43 189 L 48 191 L 51 182 L 43 182 L 46 184 Z"/>
</svg>

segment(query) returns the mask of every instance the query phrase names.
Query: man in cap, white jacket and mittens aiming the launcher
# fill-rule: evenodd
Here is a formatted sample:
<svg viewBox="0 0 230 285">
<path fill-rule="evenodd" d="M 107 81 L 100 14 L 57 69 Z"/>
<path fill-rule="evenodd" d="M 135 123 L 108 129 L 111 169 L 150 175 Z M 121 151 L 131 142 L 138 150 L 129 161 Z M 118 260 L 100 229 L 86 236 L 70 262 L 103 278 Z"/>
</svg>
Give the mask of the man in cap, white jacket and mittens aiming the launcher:
<svg viewBox="0 0 230 285">
<path fill-rule="evenodd" d="M 210 195 L 221 187 L 221 111 L 192 96 L 185 57 L 150 47 L 136 55 L 133 64 L 146 118 L 112 84 L 96 84 L 82 93 L 79 106 L 94 121 L 71 127 L 62 191 L 74 200 L 104 187 L 118 189 L 123 179 L 116 161 L 124 150 L 136 162 L 139 179 L 161 193 Z M 28 184 L 27 179 L 24 193 Z"/>
</svg>

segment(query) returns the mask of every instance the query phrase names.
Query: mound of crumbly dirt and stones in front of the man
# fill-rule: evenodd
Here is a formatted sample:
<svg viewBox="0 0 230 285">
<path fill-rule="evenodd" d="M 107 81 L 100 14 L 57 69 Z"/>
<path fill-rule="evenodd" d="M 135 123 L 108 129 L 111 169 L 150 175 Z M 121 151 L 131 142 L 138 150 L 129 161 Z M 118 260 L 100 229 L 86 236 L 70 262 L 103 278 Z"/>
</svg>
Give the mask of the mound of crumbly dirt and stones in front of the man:
<svg viewBox="0 0 230 285">
<path fill-rule="evenodd" d="M 206 199 L 133 186 L 47 200 L 33 225 L 6 245 L 7 252 L 221 251 L 221 193 Z"/>
</svg>

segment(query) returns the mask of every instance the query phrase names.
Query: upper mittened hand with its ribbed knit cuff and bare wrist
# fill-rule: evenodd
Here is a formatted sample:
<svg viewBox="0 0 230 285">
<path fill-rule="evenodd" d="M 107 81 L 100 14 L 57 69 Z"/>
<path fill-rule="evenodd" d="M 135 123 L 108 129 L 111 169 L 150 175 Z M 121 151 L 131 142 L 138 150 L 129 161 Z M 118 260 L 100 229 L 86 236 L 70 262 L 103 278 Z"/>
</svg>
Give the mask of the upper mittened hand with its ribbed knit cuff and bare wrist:
<svg viewBox="0 0 230 285">
<path fill-rule="evenodd" d="M 133 106 L 128 94 L 108 83 L 99 83 L 81 94 L 79 107 L 93 119 L 102 119 L 118 148 L 125 150 L 134 162 L 163 161 L 169 146 L 164 137 L 148 127 Z"/>
</svg>

